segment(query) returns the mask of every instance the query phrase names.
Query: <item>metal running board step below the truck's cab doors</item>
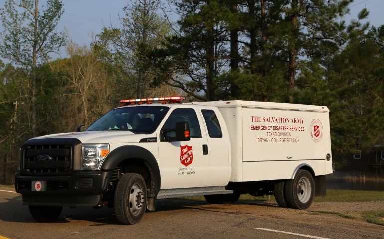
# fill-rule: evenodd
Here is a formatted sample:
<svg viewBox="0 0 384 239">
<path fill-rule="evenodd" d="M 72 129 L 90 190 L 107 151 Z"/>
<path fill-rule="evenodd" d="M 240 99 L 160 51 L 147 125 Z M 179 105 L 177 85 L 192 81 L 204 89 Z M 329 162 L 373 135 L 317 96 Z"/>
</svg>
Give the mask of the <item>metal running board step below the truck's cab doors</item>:
<svg viewBox="0 0 384 239">
<path fill-rule="evenodd" d="M 184 196 L 229 194 L 229 193 L 233 193 L 233 190 L 226 190 L 225 186 L 200 187 L 200 188 L 175 188 L 175 189 L 160 190 L 156 198 L 157 199 L 177 198 L 177 197 L 184 197 Z"/>
</svg>

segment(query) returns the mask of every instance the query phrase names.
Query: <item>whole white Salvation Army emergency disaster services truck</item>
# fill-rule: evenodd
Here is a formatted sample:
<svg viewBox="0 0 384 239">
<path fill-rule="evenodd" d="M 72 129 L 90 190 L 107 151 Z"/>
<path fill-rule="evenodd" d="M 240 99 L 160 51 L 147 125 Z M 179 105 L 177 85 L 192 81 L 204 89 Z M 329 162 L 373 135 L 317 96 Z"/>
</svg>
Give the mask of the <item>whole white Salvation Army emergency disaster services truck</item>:
<svg viewBox="0 0 384 239">
<path fill-rule="evenodd" d="M 128 106 L 83 132 L 27 140 L 15 187 L 33 218 L 108 206 L 134 224 L 162 198 L 204 195 L 217 204 L 274 194 L 281 207 L 306 209 L 325 195 L 333 172 L 327 107 L 181 100 L 122 100 Z"/>
</svg>

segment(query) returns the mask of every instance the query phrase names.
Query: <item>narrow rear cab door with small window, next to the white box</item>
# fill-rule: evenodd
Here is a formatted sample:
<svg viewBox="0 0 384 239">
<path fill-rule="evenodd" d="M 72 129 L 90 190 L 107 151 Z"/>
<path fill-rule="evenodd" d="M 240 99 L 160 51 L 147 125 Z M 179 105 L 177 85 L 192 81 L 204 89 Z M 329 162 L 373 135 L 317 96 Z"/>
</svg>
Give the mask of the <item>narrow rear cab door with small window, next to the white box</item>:
<svg viewBox="0 0 384 239">
<path fill-rule="evenodd" d="M 209 155 L 209 173 L 210 181 L 214 186 L 227 185 L 231 174 L 230 162 L 230 142 L 228 136 L 224 135 L 222 130 L 225 125 L 220 125 L 220 121 L 224 122 L 221 114 L 215 108 L 207 106 L 198 106 L 199 112 L 204 119 L 204 125 L 207 134 Z M 221 120 L 218 119 L 221 118 Z"/>
</svg>

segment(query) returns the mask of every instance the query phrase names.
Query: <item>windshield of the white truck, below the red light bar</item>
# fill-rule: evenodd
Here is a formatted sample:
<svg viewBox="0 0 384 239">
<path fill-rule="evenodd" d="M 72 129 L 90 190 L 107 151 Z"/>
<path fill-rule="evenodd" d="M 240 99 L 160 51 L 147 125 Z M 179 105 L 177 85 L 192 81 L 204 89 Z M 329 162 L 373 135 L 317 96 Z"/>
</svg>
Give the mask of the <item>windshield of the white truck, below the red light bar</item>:
<svg viewBox="0 0 384 239">
<path fill-rule="evenodd" d="M 86 131 L 129 130 L 151 133 L 168 111 L 165 106 L 133 106 L 113 109 L 97 119 Z"/>
</svg>

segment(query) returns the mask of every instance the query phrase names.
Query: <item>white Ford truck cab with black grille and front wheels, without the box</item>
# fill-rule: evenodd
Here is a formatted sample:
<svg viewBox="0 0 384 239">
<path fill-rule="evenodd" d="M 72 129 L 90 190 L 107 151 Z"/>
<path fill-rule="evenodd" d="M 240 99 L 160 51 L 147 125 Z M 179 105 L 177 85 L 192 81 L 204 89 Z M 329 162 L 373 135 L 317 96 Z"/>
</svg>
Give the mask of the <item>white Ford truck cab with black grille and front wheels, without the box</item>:
<svg viewBox="0 0 384 239">
<path fill-rule="evenodd" d="M 146 207 L 154 209 L 157 196 L 183 195 L 179 189 L 186 188 L 231 192 L 225 190 L 231 152 L 221 114 L 179 102 L 118 107 L 83 132 L 26 141 L 16 190 L 32 216 L 49 221 L 63 206 L 108 205 L 120 207 L 122 223 L 136 223 Z M 138 182 L 127 186 L 132 178 Z M 127 194 L 128 187 L 134 193 Z"/>
</svg>

